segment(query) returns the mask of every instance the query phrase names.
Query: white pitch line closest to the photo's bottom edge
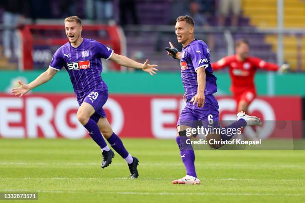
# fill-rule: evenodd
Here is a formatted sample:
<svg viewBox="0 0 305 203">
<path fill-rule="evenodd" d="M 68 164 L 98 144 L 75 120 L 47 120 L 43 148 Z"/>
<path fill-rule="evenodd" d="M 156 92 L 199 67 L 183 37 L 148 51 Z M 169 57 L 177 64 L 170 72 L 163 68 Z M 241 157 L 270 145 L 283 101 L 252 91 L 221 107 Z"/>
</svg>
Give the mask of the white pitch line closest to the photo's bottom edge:
<svg viewBox="0 0 305 203">
<path fill-rule="evenodd" d="M 174 186 L 173 186 L 174 187 Z M 196 186 L 195 186 L 196 187 Z M 30 192 L 30 193 L 82 193 L 87 191 L 28 191 L 28 190 L 2 190 L 0 192 Z M 141 193 L 141 192 L 105 192 L 105 191 L 94 191 L 99 194 L 114 194 L 114 195 L 197 195 L 197 196 L 305 196 L 305 194 L 274 194 L 274 193 Z M 92 193 L 92 191 L 90 191 Z"/>
</svg>

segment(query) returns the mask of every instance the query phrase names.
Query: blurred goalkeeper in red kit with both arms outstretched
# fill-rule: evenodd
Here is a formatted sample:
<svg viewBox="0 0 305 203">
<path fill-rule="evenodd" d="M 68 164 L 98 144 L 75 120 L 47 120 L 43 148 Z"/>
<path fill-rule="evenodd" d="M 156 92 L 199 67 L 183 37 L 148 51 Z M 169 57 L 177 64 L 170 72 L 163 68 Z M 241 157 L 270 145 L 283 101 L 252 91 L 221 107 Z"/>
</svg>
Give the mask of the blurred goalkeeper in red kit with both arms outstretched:
<svg viewBox="0 0 305 203">
<path fill-rule="evenodd" d="M 289 69 L 288 64 L 278 66 L 260 58 L 249 56 L 249 43 L 239 39 L 235 43 L 236 54 L 226 56 L 216 63 L 212 63 L 213 71 L 229 67 L 232 81 L 231 92 L 237 103 L 237 112 L 248 112 L 248 106 L 256 97 L 254 74 L 256 70 L 284 72 Z"/>
</svg>

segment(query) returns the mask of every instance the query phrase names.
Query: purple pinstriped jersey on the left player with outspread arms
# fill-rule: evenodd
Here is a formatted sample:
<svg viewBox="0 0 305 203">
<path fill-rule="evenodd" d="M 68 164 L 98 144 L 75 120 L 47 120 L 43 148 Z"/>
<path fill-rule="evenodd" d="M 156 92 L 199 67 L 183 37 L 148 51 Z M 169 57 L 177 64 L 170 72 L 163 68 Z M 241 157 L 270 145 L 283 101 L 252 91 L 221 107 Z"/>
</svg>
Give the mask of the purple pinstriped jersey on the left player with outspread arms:
<svg viewBox="0 0 305 203">
<path fill-rule="evenodd" d="M 68 71 L 76 98 L 82 103 L 92 91 L 108 93 L 106 83 L 101 78 L 103 59 L 109 59 L 113 50 L 105 45 L 84 38 L 83 42 L 74 48 L 67 42 L 53 55 L 49 68 L 59 71 L 63 66 Z"/>
</svg>

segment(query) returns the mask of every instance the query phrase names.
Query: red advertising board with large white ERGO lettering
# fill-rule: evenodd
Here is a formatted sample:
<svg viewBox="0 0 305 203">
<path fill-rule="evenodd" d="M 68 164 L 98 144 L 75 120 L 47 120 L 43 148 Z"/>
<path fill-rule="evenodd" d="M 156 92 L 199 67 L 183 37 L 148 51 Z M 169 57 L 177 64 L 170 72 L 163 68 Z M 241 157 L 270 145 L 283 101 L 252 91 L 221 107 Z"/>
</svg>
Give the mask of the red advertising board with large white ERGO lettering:
<svg viewBox="0 0 305 203">
<path fill-rule="evenodd" d="M 235 120 L 235 101 L 230 97 L 217 97 L 217 100 L 220 119 Z M 184 104 L 181 96 L 111 95 L 104 109 L 114 131 L 122 137 L 174 138 Z M 73 94 L 32 94 L 22 98 L 0 94 L 0 137 L 87 137 L 86 129 L 76 117 L 78 107 Z M 302 120 L 302 100 L 259 97 L 250 105 L 249 114 L 262 120 L 286 121 L 286 135 L 276 133 L 278 122 L 273 122 L 261 127 L 261 138 L 291 138 L 293 121 Z"/>
</svg>

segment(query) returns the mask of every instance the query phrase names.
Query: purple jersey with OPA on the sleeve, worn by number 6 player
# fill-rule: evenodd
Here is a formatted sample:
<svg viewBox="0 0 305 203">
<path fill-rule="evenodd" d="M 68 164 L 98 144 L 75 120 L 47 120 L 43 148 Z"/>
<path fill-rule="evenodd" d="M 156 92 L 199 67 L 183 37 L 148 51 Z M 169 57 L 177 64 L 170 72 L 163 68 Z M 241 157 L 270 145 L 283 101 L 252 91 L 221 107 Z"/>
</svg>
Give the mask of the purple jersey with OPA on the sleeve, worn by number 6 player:
<svg viewBox="0 0 305 203">
<path fill-rule="evenodd" d="M 186 101 L 189 102 L 197 94 L 197 73 L 199 68 L 205 69 L 206 82 L 204 95 L 217 92 L 216 77 L 210 64 L 210 51 L 202 40 L 195 39 L 181 51 L 181 78 Z"/>
</svg>

